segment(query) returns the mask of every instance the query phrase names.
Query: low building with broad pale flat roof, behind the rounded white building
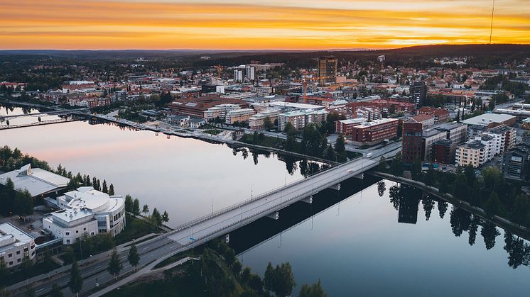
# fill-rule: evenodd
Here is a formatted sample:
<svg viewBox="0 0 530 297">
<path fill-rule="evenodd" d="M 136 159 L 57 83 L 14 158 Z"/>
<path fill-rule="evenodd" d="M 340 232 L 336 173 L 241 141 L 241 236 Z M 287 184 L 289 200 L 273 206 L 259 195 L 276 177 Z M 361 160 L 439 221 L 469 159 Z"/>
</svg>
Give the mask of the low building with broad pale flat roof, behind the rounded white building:
<svg viewBox="0 0 530 297">
<path fill-rule="evenodd" d="M 8 179 L 13 181 L 16 191 L 28 190 L 32 197 L 56 196 L 60 194 L 60 191 L 64 191 L 70 182 L 70 179 L 65 176 L 40 168 L 31 168 L 31 164 L 1 174 L 0 184 L 5 186 Z"/>
</svg>

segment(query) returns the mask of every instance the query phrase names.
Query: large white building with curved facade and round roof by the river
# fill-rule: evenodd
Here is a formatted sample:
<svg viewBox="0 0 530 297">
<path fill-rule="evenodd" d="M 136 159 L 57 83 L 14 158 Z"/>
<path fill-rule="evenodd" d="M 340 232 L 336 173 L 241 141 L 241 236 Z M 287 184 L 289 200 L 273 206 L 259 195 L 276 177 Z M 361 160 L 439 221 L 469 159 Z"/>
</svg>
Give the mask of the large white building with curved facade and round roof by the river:
<svg viewBox="0 0 530 297">
<path fill-rule="evenodd" d="M 56 238 L 63 238 L 65 245 L 84 234 L 110 233 L 114 237 L 126 225 L 124 197 L 109 196 L 91 186 L 58 197 L 57 206 L 63 209 L 43 218 L 43 225 Z"/>
</svg>

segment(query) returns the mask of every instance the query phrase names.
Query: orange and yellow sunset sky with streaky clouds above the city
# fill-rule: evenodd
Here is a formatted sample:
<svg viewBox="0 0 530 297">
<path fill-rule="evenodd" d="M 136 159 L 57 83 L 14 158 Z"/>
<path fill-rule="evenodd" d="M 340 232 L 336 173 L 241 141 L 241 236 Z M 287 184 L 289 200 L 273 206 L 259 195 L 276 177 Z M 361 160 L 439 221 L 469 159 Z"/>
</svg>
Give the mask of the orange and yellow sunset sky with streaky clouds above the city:
<svg viewBox="0 0 530 297">
<path fill-rule="evenodd" d="M 1 0 L 0 49 L 316 50 L 489 43 L 490 0 Z M 496 0 L 492 43 L 530 43 Z"/>
</svg>

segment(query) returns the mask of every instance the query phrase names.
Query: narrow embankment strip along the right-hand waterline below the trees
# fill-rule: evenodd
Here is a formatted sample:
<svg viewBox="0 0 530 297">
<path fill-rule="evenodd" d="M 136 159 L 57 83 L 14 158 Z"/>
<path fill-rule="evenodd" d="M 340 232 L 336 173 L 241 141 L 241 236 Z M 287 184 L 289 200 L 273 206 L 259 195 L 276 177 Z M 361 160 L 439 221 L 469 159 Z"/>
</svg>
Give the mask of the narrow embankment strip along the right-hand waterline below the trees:
<svg viewBox="0 0 530 297">
<path fill-rule="evenodd" d="M 455 198 L 452 194 L 448 194 L 448 193 L 442 194 L 440 193 L 440 190 L 434 186 L 427 186 L 426 184 L 423 184 L 423 182 L 421 181 L 414 181 L 412 179 L 406 179 L 402 176 L 395 176 L 395 175 L 387 174 L 383 172 L 367 172 L 367 173 L 380 177 L 382 179 L 389 179 L 391 181 L 396 181 L 402 184 L 408 184 L 409 186 L 414 186 L 418 189 L 426 191 L 426 193 L 428 194 L 431 194 L 433 196 L 436 196 L 442 199 L 445 202 L 453 204 L 453 206 L 456 206 L 458 208 L 463 208 L 465 211 L 468 211 L 472 213 L 473 215 L 477 215 L 483 220 L 486 220 L 490 223 L 494 223 L 500 228 L 504 230 L 508 230 L 509 232 L 512 232 L 514 235 L 524 238 L 525 240 L 530 240 L 530 230 L 528 228 L 521 226 L 517 223 L 514 223 L 510 220 L 507 220 L 505 218 L 501 218 L 498 215 L 494 215 L 493 217 L 490 217 L 489 215 L 486 214 L 486 212 L 482 208 L 479 208 L 477 206 L 472 206 L 467 201 L 461 201 L 460 199 Z"/>
</svg>

